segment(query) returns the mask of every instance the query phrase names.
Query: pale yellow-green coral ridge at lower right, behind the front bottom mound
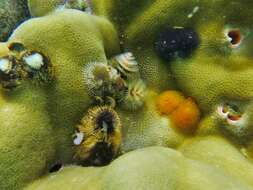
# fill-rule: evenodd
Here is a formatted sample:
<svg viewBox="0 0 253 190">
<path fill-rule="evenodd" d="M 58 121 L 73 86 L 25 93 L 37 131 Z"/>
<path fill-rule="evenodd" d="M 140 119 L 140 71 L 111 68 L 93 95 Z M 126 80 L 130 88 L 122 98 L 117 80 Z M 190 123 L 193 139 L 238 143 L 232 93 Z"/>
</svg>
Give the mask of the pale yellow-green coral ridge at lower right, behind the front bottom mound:
<svg viewBox="0 0 253 190">
<path fill-rule="evenodd" d="M 207 136 L 189 139 L 179 150 L 188 158 L 214 165 L 251 187 L 253 185 L 251 161 L 221 137 Z"/>
</svg>

